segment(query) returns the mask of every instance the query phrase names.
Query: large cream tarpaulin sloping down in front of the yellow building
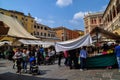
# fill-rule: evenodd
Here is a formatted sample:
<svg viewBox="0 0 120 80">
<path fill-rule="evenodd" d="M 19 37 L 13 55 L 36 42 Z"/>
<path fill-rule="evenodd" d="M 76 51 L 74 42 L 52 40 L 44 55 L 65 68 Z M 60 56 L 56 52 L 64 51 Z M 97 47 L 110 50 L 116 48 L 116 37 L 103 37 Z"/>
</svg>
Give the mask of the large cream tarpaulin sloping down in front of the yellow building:
<svg viewBox="0 0 120 80">
<path fill-rule="evenodd" d="M 21 39 L 37 39 L 36 37 L 32 36 L 29 32 L 27 32 L 21 25 L 21 23 L 15 18 L 0 14 L 0 21 L 3 21 L 3 23 L 9 27 L 9 31 L 5 36 L 11 36 Z"/>
</svg>

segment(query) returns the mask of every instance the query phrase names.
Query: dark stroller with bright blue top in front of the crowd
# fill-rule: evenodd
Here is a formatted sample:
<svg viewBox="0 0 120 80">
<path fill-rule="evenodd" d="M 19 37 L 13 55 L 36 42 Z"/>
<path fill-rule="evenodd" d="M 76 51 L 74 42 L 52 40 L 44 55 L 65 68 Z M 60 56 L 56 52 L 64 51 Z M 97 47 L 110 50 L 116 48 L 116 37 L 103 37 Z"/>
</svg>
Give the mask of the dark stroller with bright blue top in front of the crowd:
<svg viewBox="0 0 120 80">
<path fill-rule="evenodd" d="M 30 73 L 33 75 L 40 74 L 38 65 L 36 64 L 36 59 L 34 56 L 30 57 L 29 59 L 30 62 Z"/>
</svg>

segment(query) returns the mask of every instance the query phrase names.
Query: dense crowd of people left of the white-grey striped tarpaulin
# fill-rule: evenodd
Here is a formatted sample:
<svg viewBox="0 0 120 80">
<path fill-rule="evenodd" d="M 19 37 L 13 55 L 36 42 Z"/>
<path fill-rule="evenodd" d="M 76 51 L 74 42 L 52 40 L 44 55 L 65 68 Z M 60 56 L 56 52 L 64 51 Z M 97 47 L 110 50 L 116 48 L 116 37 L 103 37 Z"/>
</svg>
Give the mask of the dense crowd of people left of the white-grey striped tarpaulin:
<svg viewBox="0 0 120 80">
<path fill-rule="evenodd" d="M 29 71 L 32 70 L 33 65 L 47 65 L 54 64 L 55 49 L 54 47 L 43 48 L 41 46 L 17 47 L 15 49 L 8 48 L 3 52 L 2 58 L 13 60 L 13 69 L 17 68 L 16 73 L 27 73 L 28 66 Z"/>
</svg>

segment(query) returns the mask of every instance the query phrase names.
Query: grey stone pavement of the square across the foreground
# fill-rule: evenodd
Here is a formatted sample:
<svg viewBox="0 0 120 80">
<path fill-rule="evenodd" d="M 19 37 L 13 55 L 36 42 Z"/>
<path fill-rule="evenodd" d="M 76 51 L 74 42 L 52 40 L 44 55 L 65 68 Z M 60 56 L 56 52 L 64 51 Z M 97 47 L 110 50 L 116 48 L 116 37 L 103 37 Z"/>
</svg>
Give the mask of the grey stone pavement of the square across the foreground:
<svg viewBox="0 0 120 80">
<path fill-rule="evenodd" d="M 0 80 L 120 80 L 117 69 L 89 69 L 80 71 L 70 70 L 63 64 L 59 67 L 54 65 L 39 66 L 40 75 L 16 74 L 12 69 L 13 63 L 8 60 L 0 60 Z"/>
</svg>

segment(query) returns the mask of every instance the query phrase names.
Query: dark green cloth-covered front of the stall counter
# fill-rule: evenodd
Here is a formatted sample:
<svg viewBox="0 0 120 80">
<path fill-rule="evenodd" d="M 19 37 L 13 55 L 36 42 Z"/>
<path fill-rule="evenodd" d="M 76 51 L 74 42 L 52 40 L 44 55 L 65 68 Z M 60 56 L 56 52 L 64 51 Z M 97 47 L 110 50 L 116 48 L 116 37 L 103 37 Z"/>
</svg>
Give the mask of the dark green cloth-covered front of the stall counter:
<svg viewBox="0 0 120 80">
<path fill-rule="evenodd" d="M 117 65 L 115 54 L 105 54 L 105 55 L 97 55 L 94 57 L 88 57 L 86 61 L 86 66 L 88 68 L 106 67 L 113 65 Z"/>
</svg>

